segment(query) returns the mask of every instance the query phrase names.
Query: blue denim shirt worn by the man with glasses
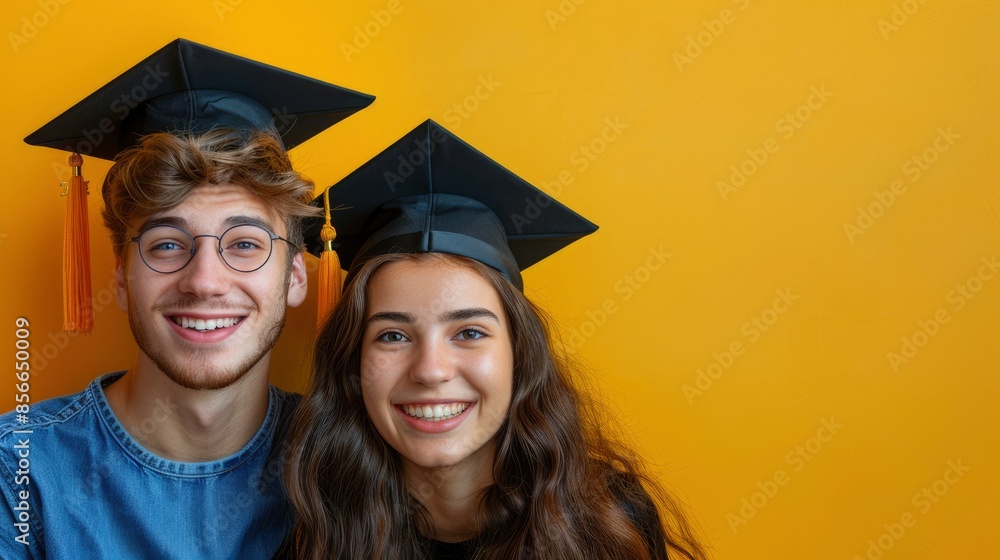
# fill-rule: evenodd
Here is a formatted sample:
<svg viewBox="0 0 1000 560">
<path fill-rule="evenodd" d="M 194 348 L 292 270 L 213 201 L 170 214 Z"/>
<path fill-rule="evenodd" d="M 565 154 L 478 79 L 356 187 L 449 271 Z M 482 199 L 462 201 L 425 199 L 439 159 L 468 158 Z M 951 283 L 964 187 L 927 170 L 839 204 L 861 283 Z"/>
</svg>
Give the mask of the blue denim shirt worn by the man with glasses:
<svg viewBox="0 0 1000 560">
<path fill-rule="evenodd" d="M 121 375 L 33 403 L 26 424 L 0 416 L 0 558 L 271 558 L 293 524 L 281 472 L 300 396 L 271 387 L 243 449 L 181 463 L 144 449 L 115 418 L 103 387 Z M 158 405 L 139 430 L 176 406 Z"/>
</svg>

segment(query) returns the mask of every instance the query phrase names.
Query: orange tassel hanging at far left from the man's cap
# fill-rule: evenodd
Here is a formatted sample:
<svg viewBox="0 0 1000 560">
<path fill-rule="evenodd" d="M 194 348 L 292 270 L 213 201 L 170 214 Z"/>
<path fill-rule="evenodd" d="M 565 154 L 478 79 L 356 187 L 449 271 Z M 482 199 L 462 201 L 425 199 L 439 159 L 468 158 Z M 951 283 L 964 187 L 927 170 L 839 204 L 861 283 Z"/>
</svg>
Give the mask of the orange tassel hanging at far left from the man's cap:
<svg viewBox="0 0 1000 560">
<path fill-rule="evenodd" d="M 94 309 L 90 292 L 90 225 L 87 216 L 87 181 L 80 168 L 83 156 L 69 156 L 73 169 L 66 192 L 66 227 L 63 230 L 63 330 L 90 334 Z"/>
</svg>

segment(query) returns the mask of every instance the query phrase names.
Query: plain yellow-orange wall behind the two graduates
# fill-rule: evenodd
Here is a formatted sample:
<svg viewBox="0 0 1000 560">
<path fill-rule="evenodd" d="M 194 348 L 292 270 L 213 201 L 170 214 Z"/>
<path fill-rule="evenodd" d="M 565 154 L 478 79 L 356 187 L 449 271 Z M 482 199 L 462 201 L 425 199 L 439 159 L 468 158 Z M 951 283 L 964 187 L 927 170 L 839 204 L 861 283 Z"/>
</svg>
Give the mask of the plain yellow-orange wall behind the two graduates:
<svg viewBox="0 0 1000 560">
<path fill-rule="evenodd" d="M 293 150 L 318 185 L 430 117 L 598 223 L 528 293 L 716 558 L 993 557 L 997 8 L 7 0 L 2 340 L 13 354 L 30 320 L 34 400 L 130 365 L 98 217 L 109 164 L 84 166 L 97 330 L 67 337 L 65 154 L 21 139 L 184 37 L 377 95 Z M 303 388 L 312 325 L 289 313 L 278 385 Z"/>
</svg>

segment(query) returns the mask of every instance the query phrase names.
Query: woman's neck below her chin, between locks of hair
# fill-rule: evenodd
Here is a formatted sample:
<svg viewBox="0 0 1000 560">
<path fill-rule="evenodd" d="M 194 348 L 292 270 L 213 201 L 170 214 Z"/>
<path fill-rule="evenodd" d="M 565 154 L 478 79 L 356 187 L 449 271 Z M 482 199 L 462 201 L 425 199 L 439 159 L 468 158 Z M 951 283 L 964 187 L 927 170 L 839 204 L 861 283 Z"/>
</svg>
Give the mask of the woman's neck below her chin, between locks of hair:
<svg viewBox="0 0 1000 560">
<path fill-rule="evenodd" d="M 407 465 L 407 486 L 430 514 L 433 533 L 426 536 L 462 542 L 482 530 L 479 503 L 483 490 L 493 485 L 493 453 L 469 459 L 430 469 Z"/>
</svg>

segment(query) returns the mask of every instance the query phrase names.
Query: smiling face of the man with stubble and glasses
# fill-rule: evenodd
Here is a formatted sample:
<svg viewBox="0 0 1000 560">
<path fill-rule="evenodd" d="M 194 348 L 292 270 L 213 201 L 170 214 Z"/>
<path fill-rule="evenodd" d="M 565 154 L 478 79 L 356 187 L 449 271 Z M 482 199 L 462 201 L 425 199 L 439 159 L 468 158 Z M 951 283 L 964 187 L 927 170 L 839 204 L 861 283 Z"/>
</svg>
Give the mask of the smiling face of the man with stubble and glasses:
<svg viewBox="0 0 1000 560">
<path fill-rule="evenodd" d="M 144 224 L 169 224 L 192 236 L 219 235 L 241 223 L 260 224 L 277 235 L 284 223 L 236 185 L 202 185 L 179 206 L 154 214 Z M 154 272 L 132 243 L 119 262 L 117 296 L 128 312 L 139 346 L 138 366 L 155 365 L 175 383 L 191 389 L 227 387 L 251 370 L 266 375 L 268 352 L 284 326 L 285 309 L 306 294 L 301 254 L 287 264 L 287 251 L 274 242 L 267 263 L 237 272 L 223 262 L 218 241 L 197 239 L 191 262 L 171 274 Z"/>
</svg>

